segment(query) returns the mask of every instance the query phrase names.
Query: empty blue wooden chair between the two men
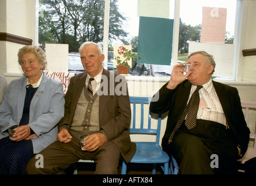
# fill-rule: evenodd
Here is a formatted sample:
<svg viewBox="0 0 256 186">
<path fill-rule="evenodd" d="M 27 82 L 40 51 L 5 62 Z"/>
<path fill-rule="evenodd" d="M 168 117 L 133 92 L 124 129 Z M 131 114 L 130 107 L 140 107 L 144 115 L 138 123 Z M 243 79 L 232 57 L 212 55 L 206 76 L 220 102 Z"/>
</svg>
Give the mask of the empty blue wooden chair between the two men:
<svg viewBox="0 0 256 186">
<path fill-rule="evenodd" d="M 148 97 L 133 97 L 130 96 L 130 102 L 133 106 L 133 119 L 132 119 L 132 128 L 130 128 L 131 134 L 148 134 L 155 135 L 155 142 L 135 142 L 136 143 L 136 152 L 130 163 L 152 163 L 153 171 L 152 174 L 156 174 L 156 164 L 163 164 L 162 169 L 164 174 L 169 174 L 169 156 L 166 152 L 162 150 L 162 147 L 159 145 L 160 138 L 160 129 L 161 129 L 161 115 L 157 115 L 157 128 L 153 129 L 151 126 L 151 113 L 149 109 L 145 109 L 145 105 L 148 105 L 151 101 L 151 98 Z M 136 112 L 136 105 L 141 105 L 141 112 Z M 144 124 L 144 113 L 148 116 L 148 125 Z M 141 123 L 139 128 L 136 128 L 136 113 L 141 117 Z M 127 173 L 127 163 L 122 162 L 121 174 Z"/>
</svg>

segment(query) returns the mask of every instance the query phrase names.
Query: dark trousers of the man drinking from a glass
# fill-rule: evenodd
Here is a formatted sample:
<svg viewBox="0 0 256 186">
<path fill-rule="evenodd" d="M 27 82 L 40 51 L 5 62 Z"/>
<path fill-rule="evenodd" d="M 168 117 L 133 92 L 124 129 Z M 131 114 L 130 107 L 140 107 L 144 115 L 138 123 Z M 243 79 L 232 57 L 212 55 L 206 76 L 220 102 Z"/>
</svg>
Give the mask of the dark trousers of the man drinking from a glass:
<svg viewBox="0 0 256 186">
<path fill-rule="evenodd" d="M 197 120 L 188 130 L 183 123 L 168 146 L 180 166 L 180 174 L 234 174 L 239 158 L 229 129 L 213 121 Z"/>
</svg>

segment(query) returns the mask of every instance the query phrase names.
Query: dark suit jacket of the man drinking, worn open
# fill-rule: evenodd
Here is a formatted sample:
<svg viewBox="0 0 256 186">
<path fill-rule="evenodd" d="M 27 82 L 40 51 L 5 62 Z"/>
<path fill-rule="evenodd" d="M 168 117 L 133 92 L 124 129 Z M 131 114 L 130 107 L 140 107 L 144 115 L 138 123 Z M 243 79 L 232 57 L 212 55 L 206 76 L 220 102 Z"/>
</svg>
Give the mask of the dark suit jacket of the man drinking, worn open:
<svg viewBox="0 0 256 186">
<path fill-rule="evenodd" d="M 166 131 L 162 139 L 163 149 L 167 147 L 167 141 L 170 134 L 187 105 L 190 95 L 191 83 L 188 80 L 179 84 L 175 90 L 169 90 L 163 85 L 159 90 L 159 100 L 150 103 L 150 111 L 153 113 L 164 113 L 169 111 Z M 242 154 L 246 153 L 250 139 L 250 130 L 247 127 L 246 120 L 241 108 L 239 92 L 236 88 L 213 81 L 216 93 L 232 132 L 234 143 L 241 146 Z"/>
</svg>

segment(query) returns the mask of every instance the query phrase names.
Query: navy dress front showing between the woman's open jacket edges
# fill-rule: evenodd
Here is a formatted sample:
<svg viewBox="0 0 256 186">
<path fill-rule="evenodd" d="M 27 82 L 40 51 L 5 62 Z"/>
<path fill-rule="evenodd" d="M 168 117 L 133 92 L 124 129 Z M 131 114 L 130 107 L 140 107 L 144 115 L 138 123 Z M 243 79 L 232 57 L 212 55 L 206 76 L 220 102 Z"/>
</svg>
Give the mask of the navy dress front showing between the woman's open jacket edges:
<svg viewBox="0 0 256 186">
<path fill-rule="evenodd" d="M 26 86 L 26 96 L 24 100 L 22 119 L 20 119 L 19 126 L 24 126 L 26 124 L 29 124 L 30 103 L 36 91 L 37 91 L 37 88 L 33 88 L 32 85 Z"/>
</svg>

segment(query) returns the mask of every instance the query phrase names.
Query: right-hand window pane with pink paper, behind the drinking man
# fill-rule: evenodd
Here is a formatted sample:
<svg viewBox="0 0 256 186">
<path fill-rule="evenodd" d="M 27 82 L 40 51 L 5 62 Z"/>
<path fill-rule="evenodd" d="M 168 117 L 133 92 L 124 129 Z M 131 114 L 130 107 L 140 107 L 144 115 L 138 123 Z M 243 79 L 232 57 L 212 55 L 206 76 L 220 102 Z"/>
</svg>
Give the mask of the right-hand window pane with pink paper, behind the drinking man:
<svg viewBox="0 0 256 186">
<path fill-rule="evenodd" d="M 213 76 L 232 78 L 235 18 L 236 0 L 181 0 L 178 61 L 187 61 L 190 53 L 204 50 L 215 58 Z"/>
</svg>

